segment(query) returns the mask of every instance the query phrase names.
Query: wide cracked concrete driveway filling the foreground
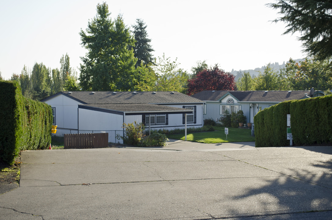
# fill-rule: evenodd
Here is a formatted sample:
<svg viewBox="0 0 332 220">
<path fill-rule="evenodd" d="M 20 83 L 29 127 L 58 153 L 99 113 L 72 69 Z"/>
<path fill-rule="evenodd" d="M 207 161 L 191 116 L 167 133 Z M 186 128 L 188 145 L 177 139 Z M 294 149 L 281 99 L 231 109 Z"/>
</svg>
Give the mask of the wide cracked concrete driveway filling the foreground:
<svg viewBox="0 0 332 220">
<path fill-rule="evenodd" d="M 332 147 L 25 151 L 0 219 L 331 219 Z"/>
</svg>

